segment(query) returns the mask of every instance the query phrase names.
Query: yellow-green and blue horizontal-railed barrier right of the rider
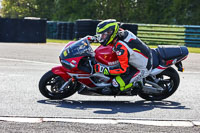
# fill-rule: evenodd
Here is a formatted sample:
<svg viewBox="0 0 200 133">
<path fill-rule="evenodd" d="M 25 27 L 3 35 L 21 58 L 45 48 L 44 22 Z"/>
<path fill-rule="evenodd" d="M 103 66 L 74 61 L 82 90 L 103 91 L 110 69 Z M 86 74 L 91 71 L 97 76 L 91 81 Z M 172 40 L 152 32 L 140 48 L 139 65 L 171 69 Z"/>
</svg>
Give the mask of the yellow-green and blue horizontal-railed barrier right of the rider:
<svg viewBox="0 0 200 133">
<path fill-rule="evenodd" d="M 138 24 L 138 35 L 147 44 L 200 47 L 200 26 Z"/>
</svg>

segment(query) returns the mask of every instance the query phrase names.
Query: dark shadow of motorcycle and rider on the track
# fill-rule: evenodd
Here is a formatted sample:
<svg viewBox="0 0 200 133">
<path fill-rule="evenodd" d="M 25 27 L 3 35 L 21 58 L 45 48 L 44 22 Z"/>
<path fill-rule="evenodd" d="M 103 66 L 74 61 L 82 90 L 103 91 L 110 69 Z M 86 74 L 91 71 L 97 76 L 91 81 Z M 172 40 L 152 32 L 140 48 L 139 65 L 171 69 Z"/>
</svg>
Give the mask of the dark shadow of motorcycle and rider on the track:
<svg viewBox="0 0 200 133">
<path fill-rule="evenodd" d="M 173 101 L 84 101 L 84 100 L 40 100 L 38 103 L 55 105 L 56 107 L 88 110 L 96 114 L 137 113 L 160 109 L 189 109 Z"/>
</svg>

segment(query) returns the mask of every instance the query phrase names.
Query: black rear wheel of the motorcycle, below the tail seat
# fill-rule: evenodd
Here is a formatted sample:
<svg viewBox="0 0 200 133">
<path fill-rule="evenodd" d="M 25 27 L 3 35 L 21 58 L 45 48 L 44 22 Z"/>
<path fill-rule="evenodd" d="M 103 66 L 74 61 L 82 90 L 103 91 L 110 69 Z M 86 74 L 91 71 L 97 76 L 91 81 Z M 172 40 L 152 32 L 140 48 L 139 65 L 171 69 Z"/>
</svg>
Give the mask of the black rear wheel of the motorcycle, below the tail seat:
<svg viewBox="0 0 200 133">
<path fill-rule="evenodd" d="M 169 67 L 164 70 L 162 73 L 158 74 L 156 78 L 159 80 L 158 85 L 161 86 L 164 91 L 161 93 L 150 94 L 141 91 L 139 96 L 146 100 L 163 100 L 171 96 L 178 88 L 180 78 L 178 72 Z"/>
</svg>

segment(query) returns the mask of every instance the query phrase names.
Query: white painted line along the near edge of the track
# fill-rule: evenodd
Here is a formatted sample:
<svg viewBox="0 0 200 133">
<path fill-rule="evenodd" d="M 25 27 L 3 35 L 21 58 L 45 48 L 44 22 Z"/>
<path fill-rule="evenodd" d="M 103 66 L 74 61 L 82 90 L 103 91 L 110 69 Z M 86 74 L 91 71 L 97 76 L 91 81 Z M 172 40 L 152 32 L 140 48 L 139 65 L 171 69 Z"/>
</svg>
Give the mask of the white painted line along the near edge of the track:
<svg viewBox="0 0 200 133">
<path fill-rule="evenodd" d="M 153 126 L 193 127 L 200 126 L 200 121 L 191 120 L 145 120 L 145 119 L 76 119 L 76 118 L 27 118 L 27 117 L 0 117 L 0 121 L 41 123 L 41 122 L 70 122 L 86 124 L 142 124 Z"/>
</svg>

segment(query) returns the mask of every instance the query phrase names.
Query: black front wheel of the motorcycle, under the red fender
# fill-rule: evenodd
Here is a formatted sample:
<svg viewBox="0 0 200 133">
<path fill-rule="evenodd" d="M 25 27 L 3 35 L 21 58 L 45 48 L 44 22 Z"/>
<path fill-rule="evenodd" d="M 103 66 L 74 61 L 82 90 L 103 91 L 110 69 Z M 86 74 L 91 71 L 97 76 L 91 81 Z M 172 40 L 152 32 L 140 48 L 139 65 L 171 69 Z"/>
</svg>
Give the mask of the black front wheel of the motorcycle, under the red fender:
<svg viewBox="0 0 200 133">
<path fill-rule="evenodd" d="M 52 71 L 45 73 L 39 82 L 39 90 L 41 94 L 49 99 L 63 99 L 73 95 L 76 90 L 76 84 L 70 83 L 66 88 L 60 91 L 60 87 L 66 81 Z"/>
</svg>

